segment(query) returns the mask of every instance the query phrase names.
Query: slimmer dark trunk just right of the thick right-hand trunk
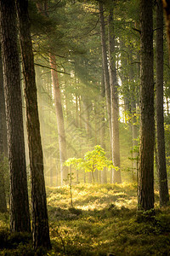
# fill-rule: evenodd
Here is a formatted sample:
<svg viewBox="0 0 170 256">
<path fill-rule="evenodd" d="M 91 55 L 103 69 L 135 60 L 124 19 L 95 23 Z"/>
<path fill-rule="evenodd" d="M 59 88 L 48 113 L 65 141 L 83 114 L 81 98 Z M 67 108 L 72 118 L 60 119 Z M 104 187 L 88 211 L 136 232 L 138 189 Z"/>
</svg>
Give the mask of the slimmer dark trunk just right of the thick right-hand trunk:
<svg viewBox="0 0 170 256">
<path fill-rule="evenodd" d="M 169 201 L 165 155 L 164 112 L 163 112 L 163 8 L 161 0 L 156 8 L 156 138 L 160 206 Z"/>
</svg>

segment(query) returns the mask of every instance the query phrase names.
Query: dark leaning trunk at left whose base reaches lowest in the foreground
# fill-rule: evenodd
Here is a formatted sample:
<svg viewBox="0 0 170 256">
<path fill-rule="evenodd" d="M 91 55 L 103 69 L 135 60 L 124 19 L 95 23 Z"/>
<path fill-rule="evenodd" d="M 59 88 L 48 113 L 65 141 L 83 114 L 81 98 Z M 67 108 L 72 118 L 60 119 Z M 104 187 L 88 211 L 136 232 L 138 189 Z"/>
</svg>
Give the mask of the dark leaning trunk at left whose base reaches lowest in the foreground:
<svg viewBox="0 0 170 256">
<path fill-rule="evenodd" d="M 31 44 L 28 1 L 18 0 L 20 45 L 26 92 L 26 118 L 31 167 L 31 207 L 33 245 L 50 248 L 48 211 L 43 176 L 42 142 L 37 110 L 37 88 Z"/>
</svg>

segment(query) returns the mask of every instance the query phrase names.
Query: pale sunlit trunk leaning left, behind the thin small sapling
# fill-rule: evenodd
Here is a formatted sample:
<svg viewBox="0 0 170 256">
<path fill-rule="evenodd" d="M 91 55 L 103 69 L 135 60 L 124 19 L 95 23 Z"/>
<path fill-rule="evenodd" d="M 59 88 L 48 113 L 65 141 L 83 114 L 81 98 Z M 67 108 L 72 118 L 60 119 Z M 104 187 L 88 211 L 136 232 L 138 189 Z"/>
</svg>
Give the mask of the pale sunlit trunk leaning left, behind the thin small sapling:
<svg viewBox="0 0 170 256">
<path fill-rule="evenodd" d="M 61 186 L 68 178 L 68 168 L 63 166 L 65 160 L 67 160 L 66 138 L 65 138 L 65 124 L 63 117 L 63 109 L 59 90 L 59 78 L 56 65 L 55 55 L 49 54 L 49 61 L 51 66 L 51 75 L 54 85 L 54 103 L 57 116 L 58 136 L 59 136 L 59 159 L 60 159 L 60 173 L 61 173 Z"/>
</svg>

